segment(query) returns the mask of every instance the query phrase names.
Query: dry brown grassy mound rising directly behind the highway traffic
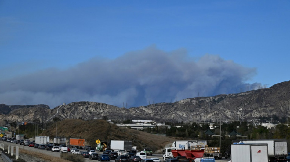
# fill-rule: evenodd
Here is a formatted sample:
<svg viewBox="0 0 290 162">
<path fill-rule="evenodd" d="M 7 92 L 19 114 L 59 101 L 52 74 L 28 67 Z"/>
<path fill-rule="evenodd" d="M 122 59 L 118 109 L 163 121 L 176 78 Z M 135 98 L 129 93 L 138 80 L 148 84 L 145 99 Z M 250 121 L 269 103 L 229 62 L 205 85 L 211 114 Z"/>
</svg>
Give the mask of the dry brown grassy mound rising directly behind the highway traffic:
<svg viewBox="0 0 290 162">
<path fill-rule="evenodd" d="M 50 136 L 51 139 L 56 136 L 68 138 L 84 138 L 87 145 L 96 146 L 96 140 L 108 142 L 111 135 L 111 125 L 109 122 L 101 119 L 84 121 L 80 119 L 67 119 L 54 123 L 41 135 Z M 118 127 L 112 124 L 112 140 L 132 141 L 138 150 L 143 147 L 151 147 L 154 151 L 162 149 L 166 144 L 175 141 L 173 138 L 158 136 L 142 131 Z"/>
</svg>

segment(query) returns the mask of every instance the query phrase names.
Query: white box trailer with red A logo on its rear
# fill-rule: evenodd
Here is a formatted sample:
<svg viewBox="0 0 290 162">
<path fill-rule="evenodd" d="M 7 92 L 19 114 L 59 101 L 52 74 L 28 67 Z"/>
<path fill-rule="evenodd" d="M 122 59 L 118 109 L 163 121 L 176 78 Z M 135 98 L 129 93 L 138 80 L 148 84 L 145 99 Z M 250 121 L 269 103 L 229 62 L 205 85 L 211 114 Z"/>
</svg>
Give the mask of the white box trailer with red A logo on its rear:
<svg viewBox="0 0 290 162">
<path fill-rule="evenodd" d="M 267 162 L 267 144 L 232 144 L 232 162 Z"/>
</svg>

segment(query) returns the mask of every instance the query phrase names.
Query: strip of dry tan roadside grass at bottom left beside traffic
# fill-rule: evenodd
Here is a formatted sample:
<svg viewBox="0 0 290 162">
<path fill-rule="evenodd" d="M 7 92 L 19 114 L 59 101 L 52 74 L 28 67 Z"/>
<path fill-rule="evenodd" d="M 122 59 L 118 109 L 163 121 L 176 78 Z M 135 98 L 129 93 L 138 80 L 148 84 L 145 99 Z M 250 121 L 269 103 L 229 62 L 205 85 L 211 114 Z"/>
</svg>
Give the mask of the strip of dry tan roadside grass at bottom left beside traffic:
<svg viewBox="0 0 290 162">
<path fill-rule="evenodd" d="M 39 157 L 39 158 L 42 158 L 43 160 L 48 160 L 51 162 L 71 162 L 69 160 L 64 160 L 60 157 L 54 157 L 54 156 L 47 155 L 44 153 L 29 151 L 29 150 L 25 150 L 25 149 L 21 149 L 21 148 L 19 148 L 19 153 L 24 153 L 24 154 L 31 155 L 34 157 Z"/>
</svg>

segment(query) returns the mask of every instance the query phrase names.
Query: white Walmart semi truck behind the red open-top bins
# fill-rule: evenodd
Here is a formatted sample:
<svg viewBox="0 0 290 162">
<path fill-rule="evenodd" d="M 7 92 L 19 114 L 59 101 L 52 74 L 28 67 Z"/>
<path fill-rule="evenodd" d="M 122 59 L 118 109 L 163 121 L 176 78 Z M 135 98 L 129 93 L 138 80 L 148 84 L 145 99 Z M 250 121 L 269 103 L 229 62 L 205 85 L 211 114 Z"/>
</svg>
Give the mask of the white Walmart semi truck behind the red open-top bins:
<svg viewBox="0 0 290 162">
<path fill-rule="evenodd" d="M 188 140 L 188 141 L 174 141 L 172 147 L 177 149 L 191 150 L 194 146 L 197 145 L 207 145 L 206 140 Z"/>
</svg>

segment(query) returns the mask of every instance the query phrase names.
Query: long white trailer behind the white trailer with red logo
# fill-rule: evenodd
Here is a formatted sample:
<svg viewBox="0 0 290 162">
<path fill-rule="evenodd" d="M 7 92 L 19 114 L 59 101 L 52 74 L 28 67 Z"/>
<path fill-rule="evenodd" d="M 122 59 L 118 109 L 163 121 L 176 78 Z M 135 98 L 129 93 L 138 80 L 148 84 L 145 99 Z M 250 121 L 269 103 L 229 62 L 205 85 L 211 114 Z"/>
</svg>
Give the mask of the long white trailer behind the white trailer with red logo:
<svg viewBox="0 0 290 162">
<path fill-rule="evenodd" d="M 271 139 L 271 140 L 240 140 L 239 143 L 261 143 L 268 144 L 269 161 L 287 161 L 287 140 L 284 139 Z"/>
</svg>

